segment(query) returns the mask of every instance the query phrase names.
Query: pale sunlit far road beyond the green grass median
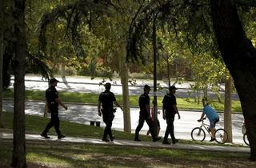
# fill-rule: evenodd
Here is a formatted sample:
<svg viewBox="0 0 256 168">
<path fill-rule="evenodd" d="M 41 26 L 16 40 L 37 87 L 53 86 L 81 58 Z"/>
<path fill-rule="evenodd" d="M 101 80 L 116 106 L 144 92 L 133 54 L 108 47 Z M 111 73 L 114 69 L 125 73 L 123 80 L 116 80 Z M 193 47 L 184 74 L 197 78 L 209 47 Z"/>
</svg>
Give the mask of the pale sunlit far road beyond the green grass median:
<svg viewBox="0 0 256 168">
<path fill-rule="evenodd" d="M 86 93 L 95 93 L 99 94 L 104 90 L 104 86 L 99 85 L 102 82 L 102 78 L 94 78 L 91 80 L 88 77 L 66 77 L 66 83 L 63 82 L 62 78 L 57 78 L 60 82 L 58 82 L 58 91 L 73 91 L 73 92 L 86 92 Z M 39 76 L 26 76 L 25 77 L 25 86 L 26 90 L 46 90 L 48 87 L 48 82 L 46 80 L 42 80 L 42 77 Z M 114 94 L 122 94 L 122 85 L 120 79 L 113 79 L 110 81 L 109 79 L 104 79 L 106 82 L 112 83 L 111 91 Z M 11 86 L 13 87 L 13 78 L 11 80 Z M 139 95 L 143 92 L 143 86 L 148 84 L 153 87 L 152 80 L 140 79 L 136 81 L 135 86 L 129 86 L 129 93 L 130 95 Z M 159 86 L 163 89 L 158 91 L 156 94 L 158 96 L 164 96 L 168 90 L 167 83 L 163 82 L 162 80 L 158 80 Z M 202 92 L 195 93 L 193 90 L 190 90 L 190 85 L 193 85 L 193 82 L 186 82 L 186 83 L 177 83 L 175 86 L 178 88 L 176 95 L 179 98 L 194 98 L 195 96 L 202 96 Z M 212 91 L 208 91 L 211 98 L 217 98 L 217 95 L 214 94 Z M 224 92 L 221 92 L 222 96 Z M 150 96 L 153 95 L 153 91 L 150 92 Z M 233 99 L 238 99 L 238 94 L 232 94 Z"/>
</svg>

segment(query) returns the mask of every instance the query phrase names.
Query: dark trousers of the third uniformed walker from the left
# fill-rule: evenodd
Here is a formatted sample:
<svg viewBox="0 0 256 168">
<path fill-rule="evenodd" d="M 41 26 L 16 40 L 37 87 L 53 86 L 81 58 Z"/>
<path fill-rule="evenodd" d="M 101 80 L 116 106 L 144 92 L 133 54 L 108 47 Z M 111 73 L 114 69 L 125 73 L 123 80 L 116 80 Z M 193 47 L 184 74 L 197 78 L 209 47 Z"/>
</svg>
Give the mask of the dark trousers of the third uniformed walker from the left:
<svg viewBox="0 0 256 168">
<path fill-rule="evenodd" d="M 148 116 L 143 115 L 143 114 L 139 114 L 138 126 L 135 130 L 135 138 L 138 138 L 138 133 L 140 130 L 142 130 L 142 127 L 143 127 L 145 121 L 146 121 L 147 125 L 150 127 L 150 134 L 154 140 L 155 139 L 154 124 Z"/>
</svg>

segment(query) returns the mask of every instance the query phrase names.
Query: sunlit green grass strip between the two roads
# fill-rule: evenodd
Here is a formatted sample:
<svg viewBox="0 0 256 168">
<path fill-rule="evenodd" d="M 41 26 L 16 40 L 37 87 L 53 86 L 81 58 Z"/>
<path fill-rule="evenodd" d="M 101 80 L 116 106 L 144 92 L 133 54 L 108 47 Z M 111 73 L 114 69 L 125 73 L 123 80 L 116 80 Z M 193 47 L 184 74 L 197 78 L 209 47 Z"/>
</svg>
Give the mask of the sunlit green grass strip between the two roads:
<svg viewBox="0 0 256 168">
<path fill-rule="evenodd" d="M 13 98 L 13 90 L 4 90 L 3 98 Z M 98 103 L 98 94 L 93 93 L 78 93 L 78 92 L 59 92 L 59 97 L 62 99 L 62 102 L 82 102 L 82 103 Z M 122 95 L 116 95 L 117 101 L 122 103 Z M 152 98 L 151 98 L 152 99 Z M 45 100 L 45 91 L 42 90 L 26 90 L 26 100 Z M 182 110 L 201 110 L 202 104 L 195 102 L 193 98 L 177 98 L 178 109 Z M 130 96 L 130 106 L 138 106 L 138 96 Z M 162 97 L 158 97 L 158 108 L 162 107 Z M 224 104 L 213 100 L 211 106 L 214 106 L 215 110 L 223 111 Z M 232 111 L 241 112 L 240 101 L 232 101 Z"/>
</svg>

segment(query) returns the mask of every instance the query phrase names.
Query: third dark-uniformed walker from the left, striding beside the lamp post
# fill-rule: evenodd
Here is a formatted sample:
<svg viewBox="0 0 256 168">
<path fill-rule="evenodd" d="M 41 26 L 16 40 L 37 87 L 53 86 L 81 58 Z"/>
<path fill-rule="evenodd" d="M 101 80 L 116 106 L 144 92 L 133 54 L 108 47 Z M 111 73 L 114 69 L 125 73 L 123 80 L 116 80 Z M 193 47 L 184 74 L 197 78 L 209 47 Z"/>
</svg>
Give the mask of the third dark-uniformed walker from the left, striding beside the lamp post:
<svg viewBox="0 0 256 168">
<path fill-rule="evenodd" d="M 150 93 L 150 86 L 145 85 L 144 86 L 144 94 L 142 94 L 138 98 L 138 105 L 140 108 L 140 112 L 139 112 L 138 126 L 135 130 L 134 141 L 141 141 L 138 138 L 138 133 L 142 129 L 145 121 L 146 121 L 147 125 L 150 127 L 150 134 L 153 138 L 153 142 L 160 140 L 160 138 L 156 137 L 156 135 L 154 133 L 154 125 L 150 118 L 150 96 L 148 95 L 149 93 Z"/>
</svg>

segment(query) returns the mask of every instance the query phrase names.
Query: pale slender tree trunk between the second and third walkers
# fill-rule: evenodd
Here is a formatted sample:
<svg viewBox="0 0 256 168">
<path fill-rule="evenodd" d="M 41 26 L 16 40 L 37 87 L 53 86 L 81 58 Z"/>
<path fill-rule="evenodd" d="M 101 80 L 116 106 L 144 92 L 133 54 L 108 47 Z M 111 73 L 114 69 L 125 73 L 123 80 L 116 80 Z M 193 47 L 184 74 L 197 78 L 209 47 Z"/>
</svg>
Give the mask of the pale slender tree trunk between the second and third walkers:
<svg viewBox="0 0 256 168">
<path fill-rule="evenodd" d="M 128 66 L 126 63 L 126 46 L 121 46 L 121 83 L 122 83 L 122 106 L 123 106 L 123 129 L 125 132 L 131 133 L 130 128 L 130 101 L 129 101 L 129 87 L 128 87 Z"/>
</svg>

